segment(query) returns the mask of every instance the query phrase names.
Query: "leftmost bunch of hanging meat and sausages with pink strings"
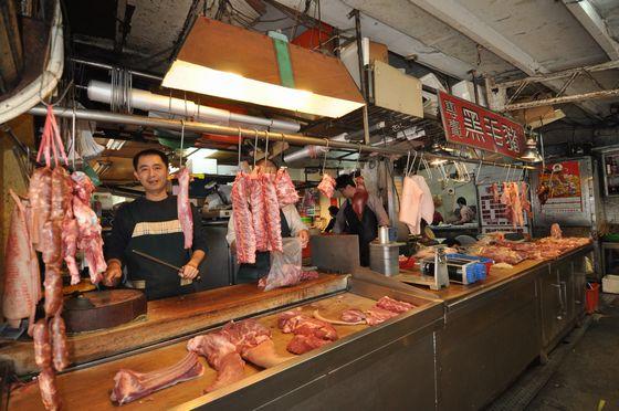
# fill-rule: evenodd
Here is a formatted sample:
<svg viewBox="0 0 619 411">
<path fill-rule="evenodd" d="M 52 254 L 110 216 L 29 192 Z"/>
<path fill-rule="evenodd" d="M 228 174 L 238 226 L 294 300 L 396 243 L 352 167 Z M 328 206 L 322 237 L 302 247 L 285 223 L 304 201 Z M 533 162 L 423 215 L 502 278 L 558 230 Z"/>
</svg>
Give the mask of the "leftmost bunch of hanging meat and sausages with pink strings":
<svg viewBox="0 0 619 411">
<path fill-rule="evenodd" d="M 80 282 L 75 262 L 77 250 L 84 251 L 94 284 L 101 280 L 106 264 L 101 225 L 90 207 L 94 186 L 83 172 L 70 175 L 62 166 L 63 162 L 69 165 L 69 161 L 51 106 L 48 106 L 36 157 L 38 162 L 43 160 L 44 167 L 35 169 L 31 176 L 29 201 L 22 201 L 11 192 L 15 211 L 11 218 L 6 255 L 3 308 L 11 325 L 30 317 L 29 333 L 34 340 L 34 359 L 41 369 L 41 399 L 45 409 L 57 410 L 61 399 L 55 387 L 54 369 L 63 370 L 70 363 L 65 326 L 61 317 L 62 264 L 66 263 L 73 284 Z M 36 302 L 41 298 L 41 282 L 34 250 L 41 251 L 45 264 L 45 316 L 36 323 L 34 313 Z"/>
</svg>

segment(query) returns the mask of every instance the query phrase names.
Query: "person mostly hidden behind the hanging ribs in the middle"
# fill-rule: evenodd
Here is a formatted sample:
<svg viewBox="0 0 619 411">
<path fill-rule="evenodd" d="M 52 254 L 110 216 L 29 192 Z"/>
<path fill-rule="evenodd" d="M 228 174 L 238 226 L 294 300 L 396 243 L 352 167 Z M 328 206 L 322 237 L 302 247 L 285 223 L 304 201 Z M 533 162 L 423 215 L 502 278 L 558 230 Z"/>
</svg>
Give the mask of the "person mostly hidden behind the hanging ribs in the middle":
<svg viewBox="0 0 619 411">
<path fill-rule="evenodd" d="M 275 173 L 277 167 L 271 160 L 260 160 L 256 162 L 264 173 Z M 305 249 L 310 242 L 310 232 L 307 226 L 301 221 L 301 215 L 294 204 L 287 204 L 280 209 L 282 238 L 298 236 L 301 247 Z M 225 240 L 230 249 L 235 252 L 237 250 L 237 233 L 234 232 L 234 217 L 230 215 L 228 221 L 228 233 Z M 271 270 L 271 254 L 269 251 L 259 251 L 255 253 L 254 264 L 241 264 L 237 272 L 235 283 L 252 283 L 269 274 Z"/>
</svg>

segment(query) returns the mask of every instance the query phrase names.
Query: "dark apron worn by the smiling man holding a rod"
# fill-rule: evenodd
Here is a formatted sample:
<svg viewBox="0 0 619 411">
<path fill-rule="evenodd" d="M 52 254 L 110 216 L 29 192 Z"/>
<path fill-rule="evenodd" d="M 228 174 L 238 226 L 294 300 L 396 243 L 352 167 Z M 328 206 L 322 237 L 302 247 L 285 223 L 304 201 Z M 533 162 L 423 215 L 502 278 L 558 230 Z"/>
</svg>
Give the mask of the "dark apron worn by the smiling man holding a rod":
<svg viewBox="0 0 619 411">
<path fill-rule="evenodd" d="M 133 236 L 127 245 L 125 261 L 128 266 L 130 286 L 144 289 L 146 298 L 149 301 L 189 294 L 196 291 L 192 283 L 181 284 L 182 278 L 178 275 L 178 271 L 146 260 L 132 252 L 132 250 L 141 251 L 166 263 L 181 267 L 191 257 L 191 250 L 183 249 L 185 236 L 182 232 L 175 233 L 174 235 L 174 245 L 170 242 L 166 242 L 165 246 L 162 246 L 160 235 L 156 234 Z"/>
</svg>

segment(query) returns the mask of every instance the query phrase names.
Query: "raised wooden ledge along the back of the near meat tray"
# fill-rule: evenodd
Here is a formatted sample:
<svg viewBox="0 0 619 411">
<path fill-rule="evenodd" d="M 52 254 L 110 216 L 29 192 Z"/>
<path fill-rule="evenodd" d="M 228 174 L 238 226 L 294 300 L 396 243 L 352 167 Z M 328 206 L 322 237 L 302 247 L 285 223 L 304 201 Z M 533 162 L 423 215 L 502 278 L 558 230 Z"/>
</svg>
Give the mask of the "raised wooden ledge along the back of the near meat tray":
<svg viewBox="0 0 619 411">
<path fill-rule="evenodd" d="M 255 315 L 300 301 L 342 292 L 343 275 L 319 278 L 270 292 L 255 284 L 241 284 L 148 302 L 146 317 L 132 323 L 67 337 L 72 366 L 167 341 L 248 315 Z M 0 347 L 0 360 L 12 361 L 18 375 L 38 372 L 32 341 L 10 341 Z"/>
</svg>

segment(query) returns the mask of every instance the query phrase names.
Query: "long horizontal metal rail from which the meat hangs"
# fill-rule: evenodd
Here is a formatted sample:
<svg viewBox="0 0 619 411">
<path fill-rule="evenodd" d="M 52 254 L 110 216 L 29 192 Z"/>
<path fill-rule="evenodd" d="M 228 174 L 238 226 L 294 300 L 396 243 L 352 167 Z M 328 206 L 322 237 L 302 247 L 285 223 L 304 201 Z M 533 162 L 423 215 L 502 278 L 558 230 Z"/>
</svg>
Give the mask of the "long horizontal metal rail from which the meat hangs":
<svg viewBox="0 0 619 411">
<path fill-rule="evenodd" d="M 117 124 L 130 124 L 136 126 L 146 126 L 146 127 L 157 127 L 157 128 L 165 128 L 169 130 L 177 130 L 180 131 L 183 127 L 186 131 L 198 131 L 198 133 L 207 133 L 207 134 L 216 134 L 220 136 L 232 136 L 241 138 L 249 138 L 249 139 L 260 139 L 266 140 L 270 139 L 272 141 L 283 140 L 293 146 L 327 146 L 326 138 L 317 138 L 317 137 L 306 137 L 295 134 L 285 134 L 285 133 L 270 133 L 264 130 L 254 130 L 254 129 L 246 129 L 241 127 L 229 127 L 229 126 L 218 126 L 216 124 L 210 123 L 201 123 L 201 122 L 181 122 L 175 119 L 165 119 L 165 118 L 153 118 L 146 116 L 138 116 L 138 115 L 128 115 L 128 114 L 118 114 L 118 113 L 109 113 L 109 112 L 101 112 L 101 110 L 91 110 L 91 109 L 75 109 L 67 107 L 54 107 L 54 115 L 59 117 L 67 117 L 71 118 L 75 115 L 76 119 L 83 120 L 93 120 L 93 122 L 112 122 Z M 32 107 L 28 113 L 35 115 L 35 116 L 44 116 L 46 114 L 46 108 L 42 105 Z M 328 146 L 332 148 L 343 148 L 354 151 L 360 152 L 378 152 L 382 155 L 395 155 L 395 156 L 405 156 L 409 151 L 397 149 L 397 148 L 389 148 L 389 147 L 375 147 L 375 146 L 366 146 L 361 144 L 354 144 L 354 143 L 345 143 L 345 141 L 334 141 L 328 140 Z M 428 159 L 445 159 L 452 161 L 461 161 L 461 162 L 471 162 L 479 165 L 480 162 L 484 166 L 507 166 L 507 164 L 489 161 L 489 160 L 481 160 L 474 158 L 461 158 L 461 157 L 452 157 L 452 156 L 441 156 L 431 152 L 423 152 L 423 156 Z M 537 167 L 535 166 L 521 166 L 521 165 L 511 165 L 512 168 L 516 169 L 528 169 L 528 170 L 536 170 Z"/>
</svg>

